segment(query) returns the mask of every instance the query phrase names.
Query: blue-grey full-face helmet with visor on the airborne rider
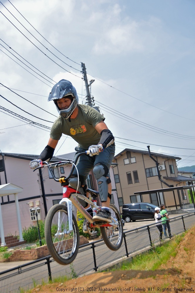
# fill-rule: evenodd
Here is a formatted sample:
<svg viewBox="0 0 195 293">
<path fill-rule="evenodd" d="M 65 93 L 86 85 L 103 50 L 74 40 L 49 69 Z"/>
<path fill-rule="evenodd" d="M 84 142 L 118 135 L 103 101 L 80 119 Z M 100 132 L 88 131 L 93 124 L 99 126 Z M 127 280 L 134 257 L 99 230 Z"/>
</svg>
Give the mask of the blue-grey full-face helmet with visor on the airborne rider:
<svg viewBox="0 0 195 293">
<path fill-rule="evenodd" d="M 60 110 L 57 104 L 57 100 L 64 98 L 66 96 L 69 96 L 69 98 L 72 98 L 72 103 L 70 106 L 65 110 Z M 58 110 L 58 113 L 63 116 L 65 119 L 68 119 L 68 117 L 73 113 L 76 106 L 78 105 L 78 95 L 76 92 L 75 87 L 71 84 L 70 81 L 66 79 L 61 79 L 57 84 L 55 84 L 51 90 L 51 93 L 49 94 L 48 101 L 53 100 L 56 108 Z"/>
</svg>

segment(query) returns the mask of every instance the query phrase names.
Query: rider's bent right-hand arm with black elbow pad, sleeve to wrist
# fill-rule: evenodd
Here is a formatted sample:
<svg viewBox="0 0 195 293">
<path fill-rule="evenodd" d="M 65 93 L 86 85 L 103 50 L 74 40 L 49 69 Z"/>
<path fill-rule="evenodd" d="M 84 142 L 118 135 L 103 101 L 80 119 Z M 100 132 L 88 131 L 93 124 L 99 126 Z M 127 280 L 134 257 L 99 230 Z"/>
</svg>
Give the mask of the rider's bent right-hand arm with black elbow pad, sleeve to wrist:
<svg viewBox="0 0 195 293">
<path fill-rule="evenodd" d="M 115 138 L 103 121 L 97 123 L 95 129 L 101 134 L 100 142 L 98 142 L 98 144 L 102 145 L 104 149 L 114 143 Z"/>
</svg>

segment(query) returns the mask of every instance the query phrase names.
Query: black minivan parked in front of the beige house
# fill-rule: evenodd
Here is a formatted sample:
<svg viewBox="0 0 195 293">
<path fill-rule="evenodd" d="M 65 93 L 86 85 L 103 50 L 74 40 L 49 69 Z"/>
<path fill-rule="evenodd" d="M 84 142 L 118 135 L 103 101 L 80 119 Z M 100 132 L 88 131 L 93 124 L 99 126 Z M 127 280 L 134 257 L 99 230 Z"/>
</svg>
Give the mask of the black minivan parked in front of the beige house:
<svg viewBox="0 0 195 293">
<path fill-rule="evenodd" d="M 148 202 L 135 202 L 122 206 L 122 219 L 129 223 L 143 219 L 154 219 L 156 205 Z"/>
</svg>

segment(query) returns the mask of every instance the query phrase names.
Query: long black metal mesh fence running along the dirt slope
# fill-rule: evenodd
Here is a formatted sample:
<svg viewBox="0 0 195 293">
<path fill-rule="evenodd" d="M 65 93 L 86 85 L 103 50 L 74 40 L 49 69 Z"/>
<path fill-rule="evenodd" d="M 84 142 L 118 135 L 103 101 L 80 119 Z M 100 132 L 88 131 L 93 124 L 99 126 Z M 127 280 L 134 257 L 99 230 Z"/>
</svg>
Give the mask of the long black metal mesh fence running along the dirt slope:
<svg viewBox="0 0 195 293">
<path fill-rule="evenodd" d="M 170 218 L 172 235 L 191 228 L 195 224 L 195 213 Z M 164 236 L 163 236 L 164 237 Z M 60 276 L 75 278 L 116 260 L 125 259 L 135 252 L 158 244 L 159 230 L 156 224 L 149 224 L 124 232 L 123 244 L 117 251 L 111 251 L 102 239 L 80 246 L 79 252 L 70 265 L 59 265 L 51 256 L 0 272 L 0 292 L 18 293 L 38 284 L 47 283 Z"/>
</svg>

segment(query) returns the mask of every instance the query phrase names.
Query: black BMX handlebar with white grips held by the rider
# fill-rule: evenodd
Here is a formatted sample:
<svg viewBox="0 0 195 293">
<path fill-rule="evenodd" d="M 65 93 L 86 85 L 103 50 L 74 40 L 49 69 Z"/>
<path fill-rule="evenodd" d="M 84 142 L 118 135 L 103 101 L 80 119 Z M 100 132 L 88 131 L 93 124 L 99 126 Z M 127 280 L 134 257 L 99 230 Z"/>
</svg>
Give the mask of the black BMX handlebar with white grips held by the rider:
<svg viewBox="0 0 195 293">
<path fill-rule="evenodd" d="M 80 156 L 82 156 L 83 154 L 90 154 L 90 151 L 87 150 L 87 151 L 82 151 L 80 153 L 78 153 L 76 156 L 75 156 L 75 160 L 74 161 L 60 161 L 60 162 L 57 162 L 57 163 L 51 163 L 49 164 L 47 161 L 42 161 L 40 162 L 40 165 L 33 170 L 36 171 L 37 169 L 40 169 L 40 168 L 44 168 L 44 167 L 48 167 L 49 168 L 49 171 L 51 172 L 51 175 L 53 177 L 53 179 L 57 182 L 60 182 L 60 183 L 65 183 L 66 181 L 68 181 L 68 179 L 70 179 L 70 177 L 72 176 L 73 174 L 73 171 L 74 171 L 74 168 L 75 168 L 75 164 L 77 163 L 78 161 L 78 158 Z M 53 168 L 56 168 L 56 167 L 61 167 L 61 166 L 65 166 L 65 165 L 68 165 L 68 164 L 72 164 L 72 168 L 70 170 L 70 174 L 68 175 L 68 177 L 61 177 L 61 178 L 56 178 L 54 172 L 53 172 Z M 46 165 L 46 166 L 43 166 L 43 165 Z"/>
</svg>

